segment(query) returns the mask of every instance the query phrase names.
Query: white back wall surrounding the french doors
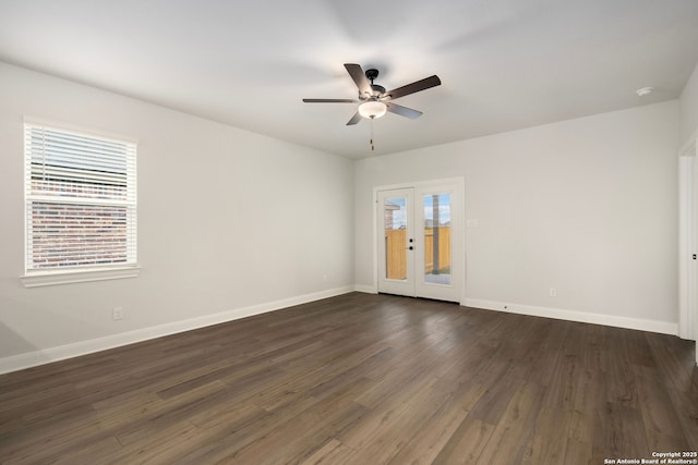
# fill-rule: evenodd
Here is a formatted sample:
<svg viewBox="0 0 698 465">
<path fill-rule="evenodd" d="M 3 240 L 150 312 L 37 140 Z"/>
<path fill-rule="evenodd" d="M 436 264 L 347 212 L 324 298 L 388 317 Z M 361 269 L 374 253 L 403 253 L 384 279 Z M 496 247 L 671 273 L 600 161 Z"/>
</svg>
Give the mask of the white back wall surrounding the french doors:
<svg viewBox="0 0 698 465">
<path fill-rule="evenodd" d="M 466 303 L 675 334 L 677 147 L 674 100 L 358 161 L 356 282 L 374 186 L 465 176 Z"/>
</svg>

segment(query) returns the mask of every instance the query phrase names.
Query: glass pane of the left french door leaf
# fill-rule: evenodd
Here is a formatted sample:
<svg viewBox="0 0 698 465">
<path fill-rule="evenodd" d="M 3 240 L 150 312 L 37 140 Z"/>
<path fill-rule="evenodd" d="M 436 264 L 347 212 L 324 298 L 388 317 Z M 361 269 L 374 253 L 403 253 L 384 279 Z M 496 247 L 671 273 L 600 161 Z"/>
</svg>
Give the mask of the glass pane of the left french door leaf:
<svg viewBox="0 0 698 465">
<path fill-rule="evenodd" d="M 383 205 L 385 223 L 385 278 L 407 280 L 407 198 L 386 198 Z"/>
</svg>

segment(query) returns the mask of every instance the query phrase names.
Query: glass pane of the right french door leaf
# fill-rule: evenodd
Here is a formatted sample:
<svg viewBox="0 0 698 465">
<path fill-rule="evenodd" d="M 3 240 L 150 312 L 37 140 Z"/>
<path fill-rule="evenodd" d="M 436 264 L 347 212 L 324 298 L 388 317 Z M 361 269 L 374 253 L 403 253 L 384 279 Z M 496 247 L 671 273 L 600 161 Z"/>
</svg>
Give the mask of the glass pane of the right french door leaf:
<svg viewBox="0 0 698 465">
<path fill-rule="evenodd" d="M 424 281 L 450 284 L 450 194 L 430 194 L 424 205 Z"/>
</svg>

